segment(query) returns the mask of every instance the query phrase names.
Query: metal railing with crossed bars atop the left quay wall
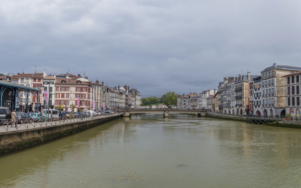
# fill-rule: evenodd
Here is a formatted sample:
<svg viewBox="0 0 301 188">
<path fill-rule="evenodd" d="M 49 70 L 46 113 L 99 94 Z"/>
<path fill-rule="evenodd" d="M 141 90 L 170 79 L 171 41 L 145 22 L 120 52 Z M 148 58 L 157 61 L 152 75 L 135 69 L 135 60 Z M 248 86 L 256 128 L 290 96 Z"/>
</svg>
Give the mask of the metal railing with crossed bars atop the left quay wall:
<svg viewBox="0 0 301 188">
<path fill-rule="evenodd" d="M 17 123 L 17 127 L 15 127 L 15 124 L 11 124 L 11 119 L 7 119 L 4 124 L 1 124 L 0 126 L 0 132 L 5 131 L 15 131 L 15 130 L 21 130 L 21 129 L 33 129 L 36 127 L 47 127 L 51 125 L 61 125 L 65 123 L 77 123 L 81 121 L 91 120 L 91 119 L 103 119 L 107 117 L 112 116 L 119 116 L 122 114 L 122 112 L 117 113 L 106 113 L 106 114 L 99 114 L 94 116 L 79 116 L 79 117 L 70 117 L 70 118 L 61 118 L 57 120 L 51 120 L 51 121 L 38 121 L 38 122 L 30 122 L 28 119 L 25 120 L 23 123 Z M 67 116 L 62 116 L 67 117 Z"/>
</svg>

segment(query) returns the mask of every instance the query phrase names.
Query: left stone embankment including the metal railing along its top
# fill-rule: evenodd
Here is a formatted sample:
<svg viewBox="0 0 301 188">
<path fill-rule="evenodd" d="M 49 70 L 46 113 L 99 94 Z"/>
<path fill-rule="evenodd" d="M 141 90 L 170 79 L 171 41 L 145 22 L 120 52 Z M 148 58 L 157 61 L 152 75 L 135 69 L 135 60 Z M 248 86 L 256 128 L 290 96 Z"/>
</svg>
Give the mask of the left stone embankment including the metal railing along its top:
<svg viewBox="0 0 301 188">
<path fill-rule="evenodd" d="M 38 122 L 18 124 L 17 128 L 0 126 L 0 154 L 17 149 L 48 142 L 64 137 L 113 119 L 120 118 L 123 113 L 106 116 L 93 116 L 86 118 L 65 119 L 55 122 Z"/>
</svg>

